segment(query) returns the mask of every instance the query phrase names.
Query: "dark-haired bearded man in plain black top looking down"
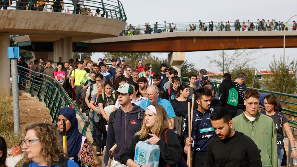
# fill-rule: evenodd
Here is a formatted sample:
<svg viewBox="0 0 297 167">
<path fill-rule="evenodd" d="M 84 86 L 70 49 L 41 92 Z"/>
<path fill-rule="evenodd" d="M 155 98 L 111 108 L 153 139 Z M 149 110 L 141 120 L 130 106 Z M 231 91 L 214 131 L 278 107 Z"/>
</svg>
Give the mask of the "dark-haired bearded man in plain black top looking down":
<svg viewBox="0 0 297 167">
<path fill-rule="evenodd" d="M 215 109 L 211 113 L 210 120 L 217 136 L 207 146 L 205 167 L 262 166 L 257 145 L 251 138 L 232 128 L 232 116 L 227 108 Z"/>
</svg>

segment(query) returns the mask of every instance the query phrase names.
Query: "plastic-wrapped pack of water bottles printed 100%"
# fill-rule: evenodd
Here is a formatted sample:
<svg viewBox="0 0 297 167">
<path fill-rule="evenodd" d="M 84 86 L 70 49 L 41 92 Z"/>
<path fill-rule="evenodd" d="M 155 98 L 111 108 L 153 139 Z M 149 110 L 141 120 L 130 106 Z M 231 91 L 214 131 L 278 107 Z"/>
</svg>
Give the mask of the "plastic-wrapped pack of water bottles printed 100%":
<svg viewBox="0 0 297 167">
<path fill-rule="evenodd" d="M 134 162 L 139 165 L 159 166 L 160 148 L 146 141 L 139 141 L 135 146 Z"/>
</svg>

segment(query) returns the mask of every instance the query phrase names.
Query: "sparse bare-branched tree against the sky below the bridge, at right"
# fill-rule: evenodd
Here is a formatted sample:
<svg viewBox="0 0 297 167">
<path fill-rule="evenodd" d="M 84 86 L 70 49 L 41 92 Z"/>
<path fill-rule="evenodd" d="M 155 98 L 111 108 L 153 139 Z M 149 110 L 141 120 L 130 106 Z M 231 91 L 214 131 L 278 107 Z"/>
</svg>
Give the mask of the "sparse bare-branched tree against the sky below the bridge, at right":
<svg viewBox="0 0 297 167">
<path fill-rule="evenodd" d="M 209 67 L 211 64 L 219 67 L 220 71 L 224 73 L 230 73 L 236 69 L 244 69 L 249 63 L 254 62 L 257 58 L 252 58 L 251 55 L 258 52 L 256 49 L 235 49 L 232 54 L 225 50 L 220 50 L 215 57 L 206 56 L 209 59 Z M 262 56 L 262 55 L 261 55 Z"/>
</svg>

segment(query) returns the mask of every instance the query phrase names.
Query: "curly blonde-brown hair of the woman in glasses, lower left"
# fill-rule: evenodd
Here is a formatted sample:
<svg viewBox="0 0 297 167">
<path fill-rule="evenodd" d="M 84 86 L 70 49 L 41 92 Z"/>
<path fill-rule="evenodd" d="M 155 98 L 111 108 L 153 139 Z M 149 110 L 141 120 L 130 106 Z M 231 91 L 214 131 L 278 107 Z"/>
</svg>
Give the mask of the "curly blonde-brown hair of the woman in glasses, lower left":
<svg viewBox="0 0 297 167">
<path fill-rule="evenodd" d="M 46 123 L 31 123 L 24 127 L 23 138 L 25 138 L 28 130 L 35 130 L 36 136 L 42 145 L 40 154 L 48 166 L 56 166 L 59 164 L 59 159 L 64 156 L 64 150 L 61 144 L 61 139 L 56 127 Z M 30 163 L 30 160 L 25 153 L 25 161 Z"/>
</svg>

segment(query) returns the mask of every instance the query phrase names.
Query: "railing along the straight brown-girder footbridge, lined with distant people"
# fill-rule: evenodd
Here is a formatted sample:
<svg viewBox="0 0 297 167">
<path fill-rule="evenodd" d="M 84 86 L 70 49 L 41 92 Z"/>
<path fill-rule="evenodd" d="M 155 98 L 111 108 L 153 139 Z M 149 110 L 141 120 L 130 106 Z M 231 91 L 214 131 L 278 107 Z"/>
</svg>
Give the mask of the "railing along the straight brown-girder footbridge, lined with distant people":
<svg viewBox="0 0 297 167">
<path fill-rule="evenodd" d="M 267 22 L 266 22 L 267 23 Z M 244 31 L 282 31 L 282 30 L 293 30 L 293 22 L 288 22 L 287 28 L 285 28 L 286 22 L 281 22 L 278 26 L 274 23 L 259 24 L 253 22 L 253 26 L 249 28 L 249 23 L 245 22 L 246 28 Z M 278 22 L 277 22 L 278 23 Z M 283 23 L 283 24 L 282 24 Z M 169 25 L 170 24 L 170 25 Z M 150 29 L 147 29 L 145 25 L 132 26 L 133 30 L 128 26 L 124 29 L 124 35 L 139 35 L 139 34 L 154 34 L 154 33 L 165 33 L 165 32 L 187 32 L 187 31 L 242 31 L 243 22 L 240 23 L 241 26 L 237 27 L 235 22 L 226 23 L 213 23 L 210 26 L 209 23 L 205 23 L 205 28 L 202 26 L 200 28 L 200 23 L 166 23 L 157 24 L 157 28 L 154 29 L 154 24 L 151 25 Z M 296 25 L 297 26 L 297 25 Z M 171 28 L 170 28 L 171 27 Z M 212 27 L 212 29 L 211 29 Z"/>
</svg>

